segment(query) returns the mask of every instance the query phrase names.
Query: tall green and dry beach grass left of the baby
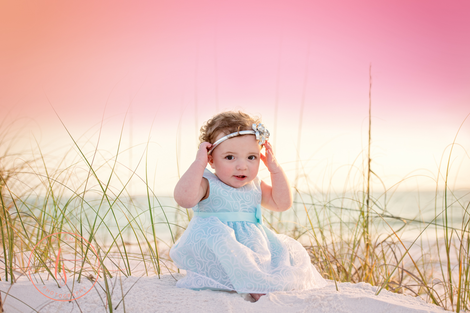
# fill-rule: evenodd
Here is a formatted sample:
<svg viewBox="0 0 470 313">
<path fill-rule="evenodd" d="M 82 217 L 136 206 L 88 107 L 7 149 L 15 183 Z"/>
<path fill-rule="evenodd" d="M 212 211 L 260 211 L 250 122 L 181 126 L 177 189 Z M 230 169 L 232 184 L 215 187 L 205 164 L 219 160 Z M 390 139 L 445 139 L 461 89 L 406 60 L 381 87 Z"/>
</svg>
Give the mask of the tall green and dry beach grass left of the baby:
<svg viewBox="0 0 470 313">
<path fill-rule="evenodd" d="M 59 240 L 48 239 L 46 245 L 33 248 L 42 238 L 61 232 L 86 238 L 98 251 L 99 258 L 93 260 L 90 244 L 85 244 L 83 249 L 69 247 L 79 256 L 76 259 L 83 260 L 82 266 L 59 261 L 58 272 L 63 267 L 78 282 L 88 275 L 106 278 L 102 286 L 106 292 L 103 301 L 110 312 L 114 287 L 109 279 L 117 275 L 160 275 L 169 271 L 162 267 L 167 268 L 171 260 L 159 249 L 171 243 L 161 239 L 161 233 L 166 227 L 174 243 L 175 228 L 181 226 L 169 221 L 168 211 L 173 208 L 167 209 L 159 202 L 147 172 L 139 177 L 134 168 L 130 169 L 131 178 L 121 178 L 129 175 L 122 172 L 125 167 L 118 161 L 127 153 L 121 149 L 120 140 L 116 151 L 108 157 L 110 153 L 98 147 L 90 149 L 91 153 L 85 151 L 89 141 L 71 137 L 74 147 L 64 153 L 62 160 L 51 160 L 42 154 L 39 146 L 32 149 L 29 159 L 25 159 L 24 153 L 10 153 L 14 139 L 10 137 L 9 142 L 5 139 L 0 145 L 0 262 L 3 267 L 0 279 L 13 284 L 16 277 L 31 272 L 41 281 L 43 276 L 39 274 L 45 273 L 59 285 L 53 260 L 64 246 Z M 145 148 L 137 167 L 147 168 L 147 157 Z M 54 163 L 55 168 L 50 168 L 49 164 Z M 128 194 L 131 180 L 147 187 L 146 201 L 135 202 Z M 162 223 L 166 226 L 162 227 Z M 34 264 L 28 266 L 31 253 Z M 94 269 L 84 267 L 84 262 L 94 265 Z"/>
</svg>

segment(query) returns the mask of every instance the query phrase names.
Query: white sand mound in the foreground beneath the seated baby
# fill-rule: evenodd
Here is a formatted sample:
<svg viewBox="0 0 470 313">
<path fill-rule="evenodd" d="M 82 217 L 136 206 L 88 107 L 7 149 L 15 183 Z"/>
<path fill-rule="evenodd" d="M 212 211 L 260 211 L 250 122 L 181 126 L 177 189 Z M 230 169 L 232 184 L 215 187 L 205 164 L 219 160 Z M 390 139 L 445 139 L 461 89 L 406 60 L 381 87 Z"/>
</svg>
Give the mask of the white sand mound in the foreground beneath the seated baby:
<svg viewBox="0 0 470 313">
<path fill-rule="evenodd" d="M 183 275 L 174 275 L 179 279 Z M 114 287 L 112 295 L 113 309 L 122 299 L 122 293 L 127 293 L 124 303 L 121 302 L 114 312 L 184 312 L 184 313 L 211 313 L 211 312 L 328 312 L 328 313 L 353 313 L 353 312 L 445 312 L 442 308 L 426 303 L 425 301 L 410 296 L 404 296 L 383 290 L 379 296 L 374 293 L 377 287 L 367 283 L 352 284 L 349 282 L 338 285 L 339 292 L 335 289 L 334 282 L 328 286 L 316 290 L 307 291 L 276 291 L 261 297 L 258 302 L 251 303 L 242 295 L 224 291 L 194 291 L 175 287 L 175 279 L 171 275 L 158 277 L 134 277 L 113 278 L 110 283 Z M 70 281 L 69 281 L 70 282 Z M 98 280 L 104 288 L 103 280 Z M 122 283 L 122 288 L 121 288 Z M 54 286 L 53 281 L 46 282 L 46 286 Z M 75 284 L 75 288 L 89 289 L 92 283 L 83 280 L 81 284 Z M 38 286 L 42 288 L 42 285 Z M 10 288 L 11 287 L 11 288 Z M 25 276 L 19 277 L 11 286 L 9 282 L 0 282 L 2 299 L 5 300 L 5 312 L 43 312 L 43 313 L 78 313 L 78 312 L 109 312 L 105 309 L 105 293 L 96 284 L 96 288 L 90 290 L 84 297 L 72 302 L 59 302 L 50 300 L 39 293 Z M 9 289 L 10 288 L 10 289 Z M 9 291 L 8 291 L 9 289 Z M 76 290 L 76 289 L 75 289 Z M 122 293 L 121 293 L 122 290 Z M 5 292 L 9 295 L 5 298 Z M 24 303 L 16 300 L 18 298 Z M 29 305 L 30 307 L 28 307 Z M 125 308 L 125 311 L 124 311 Z"/>
</svg>

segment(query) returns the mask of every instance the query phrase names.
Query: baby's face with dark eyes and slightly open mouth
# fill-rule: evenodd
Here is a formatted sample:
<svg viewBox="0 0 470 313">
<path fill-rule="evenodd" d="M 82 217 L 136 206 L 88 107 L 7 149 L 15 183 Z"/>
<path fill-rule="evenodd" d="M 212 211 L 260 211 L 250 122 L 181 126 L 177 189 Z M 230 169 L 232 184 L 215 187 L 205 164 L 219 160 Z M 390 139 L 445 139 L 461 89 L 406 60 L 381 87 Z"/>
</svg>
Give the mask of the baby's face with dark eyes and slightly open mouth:
<svg viewBox="0 0 470 313">
<path fill-rule="evenodd" d="M 216 140 L 223 137 L 221 134 Z M 236 136 L 222 141 L 209 155 L 209 164 L 219 179 L 238 188 L 258 175 L 261 146 L 254 135 Z"/>
</svg>

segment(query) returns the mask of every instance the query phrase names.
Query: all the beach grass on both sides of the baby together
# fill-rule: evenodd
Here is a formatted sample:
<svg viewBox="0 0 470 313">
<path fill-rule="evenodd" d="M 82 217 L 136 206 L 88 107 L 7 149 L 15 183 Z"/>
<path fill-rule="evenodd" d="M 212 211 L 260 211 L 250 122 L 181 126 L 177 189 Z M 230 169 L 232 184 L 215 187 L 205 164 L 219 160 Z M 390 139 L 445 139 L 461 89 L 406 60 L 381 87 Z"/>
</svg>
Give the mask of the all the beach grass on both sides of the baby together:
<svg viewBox="0 0 470 313">
<path fill-rule="evenodd" d="M 119 162 L 120 141 L 109 152 L 100 151 L 97 143 L 90 148 L 89 139 L 70 136 L 72 149 L 55 160 L 44 155 L 36 142 L 28 151 L 14 151 L 15 135 L 8 127 L 2 131 L 2 280 L 13 284 L 19 275 L 41 279 L 38 274 L 44 273 L 60 285 L 55 269 L 67 271 L 69 279 L 77 282 L 90 275 L 107 278 L 99 288 L 106 294 L 103 305 L 112 312 L 120 305 L 111 303 L 111 296 L 122 292 L 115 288 L 121 276 L 178 271 L 168 252 L 188 225 L 191 212 L 171 198 L 160 197 L 152 187 L 148 149 L 137 165 L 145 168 L 145 176 L 138 176 L 136 168 Z M 289 214 L 265 211 L 265 223 L 304 244 L 325 278 L 368 282 L 380 286 L 377 295 L 390 290 L 421 297 L 446 310 L 470 310 L 470 191 L 457 190 L 451 183 L 463 175 L 453 158 L 455 149 L 462 147 L 454 139 L 443 153 L 437 173 L 429 176 L 435 184 L 432 203 L 426 209 L 415 206 L 411 217 L 396 214 L 393 203 L 403 194 L 400 185 L 414 176 L 372 190 L 371 182 L 381 180 L 370 168 L 368 148 L 348 165 L 345 189 L 339 193 L 329 186 L 322 186 L 327 192 L 319 192 L 306 174 L 308 160 L 298 160 L 294 206 Z M 133 173 L 130 178 L 129 173 Z M 144 195 L 128 191 L 136 182 L 145 185 Z M 63 244 L 64 234 L 57 233 L 79 237 L 74 244 Z M 48 237 L 51 234 L 62 241 Z M 57 260 L 59 249 L 79 261 Z"/>
</svg>

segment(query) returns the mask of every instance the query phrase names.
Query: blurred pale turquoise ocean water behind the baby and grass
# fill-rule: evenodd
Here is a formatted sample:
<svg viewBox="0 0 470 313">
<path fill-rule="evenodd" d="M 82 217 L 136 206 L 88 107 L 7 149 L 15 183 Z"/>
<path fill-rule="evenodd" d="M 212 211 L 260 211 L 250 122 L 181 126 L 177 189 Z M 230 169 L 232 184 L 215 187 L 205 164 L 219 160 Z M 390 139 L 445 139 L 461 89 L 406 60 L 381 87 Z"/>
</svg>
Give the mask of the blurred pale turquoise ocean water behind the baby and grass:
<svg viewBox="0 0 470 313">
<path fill-rule="evenodd" d="M 33 202 L 36 206 L 41 203 L 40 206 L 46 207 L 47 213 L 55 218 L 63 216 L 66 220 L 64 229 L 84 237 L 93 231 L 96 240 L 104 245 L 112 243 L 118 235 L 130 244 L 137 243 L 141 240 L 138 238 L 144 235 L 152 239 L 153 221 L 159 245 L 164 249 L 169 248 L 193 215 L 192 209 L 179 207 L 171 197 L 122 197 L 110 202 L 112 210 L 109 203 L 101 198 L 85 200 L 76 198 L 74 201 L 61 201 L 60 211 L 47 204 L 45 198 Z M 462 221 L 467 221 L 469 217 L 465 213 L 469 201 L 470 194 L 467 191 L 449 192 L 446 199 L 442 193 L 436 195 L 432 191 L 395 192 L 391 195 L 374 193 L 369 201 L 370 231 L 380 236 L 388 235 L 393 230 L 404 240 L 414 240 L 417 236 L 440 237 L 445 225 L 456 230 L 462 229 Z M 331 233 L 342 231 L 347 236 L 348 231 L 357 227 L 361 210 L 367 212 L 365 202 L 366 196 L 359 193 L 334 196 L 300 194 L 294 198 L 294 204 L 289 210 L 272 212 L 263 209 L 263 217 L 268 227 L 296 237 L 301 242 L 311 225 L 314 229 Z M 35 209 L 31 207 L 29 212 L 34 213 Z M 39 210 L 36 210 L 38 212 L 35 215 L 39 214 Z"/>
</svg>

